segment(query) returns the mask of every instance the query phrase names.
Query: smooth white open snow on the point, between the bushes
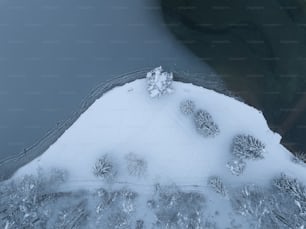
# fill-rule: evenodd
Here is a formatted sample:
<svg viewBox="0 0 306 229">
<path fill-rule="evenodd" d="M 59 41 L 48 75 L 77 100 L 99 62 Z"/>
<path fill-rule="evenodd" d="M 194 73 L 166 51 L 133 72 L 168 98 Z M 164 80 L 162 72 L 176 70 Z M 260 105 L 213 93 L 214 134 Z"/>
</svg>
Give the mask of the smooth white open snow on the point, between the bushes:
<svg viewBox="0 0 306 229">
<path fill-rule="evenodd" d="M 304 168 L 291 162 L 290 152 L 280 144 L 281 137 L 268 128 L 260 111 L 192 84 L 174 81 L 172 87 L 173 94 L 157 99 L 148 95 L 145 79 L 112 89 L 14 177 L 35 174 L 38 168 L 59 168 L 68 171 L 67 187 L 71 189 L 100 187 L 106 181 L 94 175 L 93 166 L 107 153 L 118 170 L 115 183 L 131 184 L 136 191 L 156 183 L 206 186 L 212 175 L 221 176 L 232 187 L 264 185 L 281 172 L 305 180 Z M 185 99 L 212 115 L 219 135 L 205 138 L 198 134 L 193 121 L 180 112 L 179 104 Z M 237 134 L 253 135 L 267 151 L 263 160 L 247 161 L 241 176 L 232 175 L 226 166 Z M 131 152 L 147 161 L 142 177 L 127 172 L 126 155 Z"/>
</svg>

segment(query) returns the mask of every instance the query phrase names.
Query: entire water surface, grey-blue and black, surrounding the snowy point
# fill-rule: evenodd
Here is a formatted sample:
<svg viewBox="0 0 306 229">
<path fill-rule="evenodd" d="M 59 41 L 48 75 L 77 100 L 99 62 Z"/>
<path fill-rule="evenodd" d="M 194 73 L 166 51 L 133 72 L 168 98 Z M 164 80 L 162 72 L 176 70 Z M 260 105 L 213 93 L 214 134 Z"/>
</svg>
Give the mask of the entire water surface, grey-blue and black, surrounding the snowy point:
<svg viewBox="0 0 306 229">
<path fill-rule="evenodd" d="M 225 92 L 208 64 L 306 151 L 305 15 L 303 0 L 1 0 L 1 177 L 103 92 L 159 65 Z"/>
</svg>

